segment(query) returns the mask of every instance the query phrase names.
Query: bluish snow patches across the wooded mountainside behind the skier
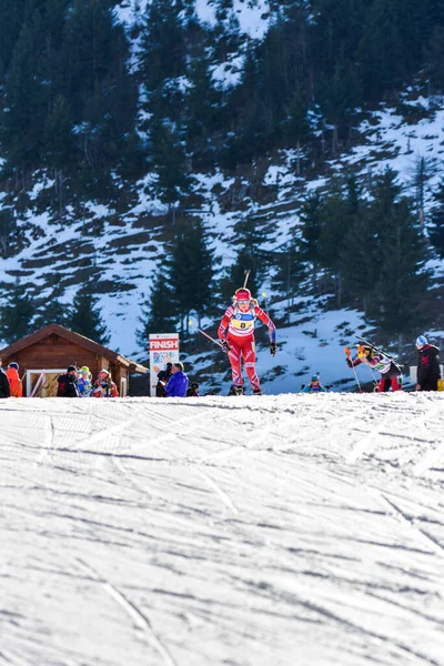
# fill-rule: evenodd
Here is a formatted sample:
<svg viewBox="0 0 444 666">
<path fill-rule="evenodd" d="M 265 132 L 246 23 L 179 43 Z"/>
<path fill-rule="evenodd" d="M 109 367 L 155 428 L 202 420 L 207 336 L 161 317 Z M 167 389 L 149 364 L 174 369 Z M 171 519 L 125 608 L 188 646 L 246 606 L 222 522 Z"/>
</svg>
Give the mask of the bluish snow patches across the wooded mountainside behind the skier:
<svg viewBox="0 0 444 666">
<path fill-rule="evenodd" d="M 194 3 L 185 4 L 193 7 L 195 21 L 202 30 L 213 30 L 214 34 L 220 33 L 219 38 L 223 36 L 222 41 L 230 42 L 225 44 L 226 48 L 220 48 L 218 38 L 214 43 L 210 41 L 212 46 L 206 46 L 203 51 L 209 58 L 211 80 L 219 92 L 240 87 L 242 75 L 245 74 L 243 68 L 249 48 L 265 40 L 266 34 L 272 31 L 273 21 L 279 17 L 283 20 L 285 14 L 280 3 L 271 0 L 195 0 Z M 291 2 L 283 4 L 289 9 Z M 134 75 L 138 69 L 143 69 L 143 59 L 140 58 L 143 42 L 141 27 L 147 22 L 149 6 L 151 0 L 122 0 L 115 3 L 114 22 L 124 29 L 129 43 L 130 65 L 127 79 L 130 79 L 130 74 Z M 179 18 L 175 18 L 180 22 L 184 13 L 179 14 Z M 163 38 L 167 37 L 167 32 L 161 32 Z M 233 37 L 236 39 L 233 39 L 231 44 Z M 276 47 L 272 44 L 270 49 Z M 297 58 L 296 54 L 295 59 Z M 14 222 L 17 221 L 14 236 L 20 236 L 21 244 L 17 253 L 12 251 L 7 254 L 7 259 L 1 260 L 0 287 L 3 294 L 8 294 L 10 286 L 20 278 L 38 300 L 39 307 L 42 304 L 44 307 L 48 300 L 56 297 L 60 299 L 64 306 L 69 306 L 79 289 L 79 282 L 93 275 L 103 322 L 111 335 L 109 347 L 138 361 L 145 361 L 147 345 L 141 345 L 137 336 L 138 330 L 142 329 L 142 305 L 147 303 L 151 293 L 154 278 L 162 274 L 162 264 L 165 265 L 165 243 L 171 240 L 174 230 L 171 202 L 169 206 L 162 200 L 159 173 L 150 161 L 152 155 L 149 147 L 152 137 L 148 129 L 148 120 L 152 112 L 150 107 L 147 107 L 147 100 L 152 91 L 148 93 L 148 83 L 143 77 L 135 79 L 138 92 L 134 93 L 134 131 L 143 150 L 148 151 L 143 154 L 140 172 L 137 171 L 138 175 L 133 180 L 132 176 L 125 180 L 112 171 L 113 189 L 109 199 L 104 195 L 98 201 L 83 193 L 79 194 L 78 199 L 74 196 L 72 204 L 67 204 L 62 199 L 57 215 L 49 206 L 58 186 L 57 178 L 51 175 L 53 170 L 42 167 L 28 174 L 29 181 L 23 181 L 26 184 L 22 192 L 16 192 L 13 189 L 14 181 L 18 181 L 16 174 L 12 184 L 7 183 L 0 190 L 0 213 L 12 211 Z M 185 75 L 165 81 L 162 79 L 162 84 L 165 84 L 168 90 L 171 88 L 171 91 L 188 89 L 191 85 Z M 431 90 L 428 85 L 428 92 Z M 125 94 L 123 91 L 122 97 Z M 310 141 L 305 144 L 294 140 L 285 143 L 285 139 L 280 138 L 270 150 L 264 149 L 260 159 L 245 158 L 244 163 L 236 163 L 231 170 L 228 167 L 224 170 L 221 167 L 223 162 L 219 163 L 216 160 L 210 161 L 215 164 L 212 171 L 202 168 L 201 172 L 198 170 L 200 167 L 194 169 L 190 174 L 190 193 L 181 202 L 183 206 L 180 212 L 188 221 L 194 218 L 203 221 L 214 250 L 218 278 L 224 274 L 223 271 L 231 266 L 238 256 L 236 225 L 249 219 L 253 219 L 258 228 L 262 222 L 269 224 L 271 232 L 261 250 L 270 254 L 284 252 L 285 243 L 300 233 L 301 205 L 307 193 L 324 191 L 333 176 L 349 173 L 351 170 L 363 188 L 363 198 L 369 194 L 370 174 L 380 173 L 390 167 L 398 173 L 400 182 L 412 199 L 415 199 L 417 183 L 415 184 L 414 172 L 423 161 L 427 174 L 424 175 L 423 182 L 422 214 L 426 218 L 436 202 L 434 195 L 442 180 L 444 98 L 430 94 L 428 99 L 425 99 L 424 94 L 424 87 L 421 88 L 418 83 L 417 89 L 408 87 L 400 93 L 396 108 L 383 103 L 377 105 L 374 100 L 369 107 L 373 111 L 361 112 L 359 107 L 360 120 L 350 127 L 349 143 L 337 143 L 333 125 L 322 118 L 316 102 L 307 114 L 312 132 L 310 141 Z M 170 99 L 168 95 L 167 98 Z M 393 100 L 392 97 L 390 99 Z M 174 101 L 171 102 L 171 107 L 174 104 Z M 226 100 L 220 103 L 220 111 L 225 104 Z M 282 104 L 276 103 L 276 107 L 281 108 Z M 165 121 L 165 124 L 174 127 L 175 123 Z M 77 127 L 75 132 L 80 131 L 80 127 Z M 222 134 L 223 141 L 226 142 L 226 132 Z M 213 145 L 213 137 L 208 134 L 206 140 L 219 154 L 221 147 Z M 337 145 L 335 143 L 333 148 L 335 141 Z M 329 150 L 325 148 L 326 143 Z M 345 143 L 352 147 L 350 152 L 341 152 L 341 147 Z M 294 148 L 296 144 L 302 148 Z M 292 148 L 285 149 L 284 145 Z M 334 155 L 334 159 L 330 159 L 330 155 Z M 191 163 L 194 158 L 195 154 L 189 154 L 188 162 Z M 0 150 L 0 164 L 3 161 Z M 201 163 L 198 160 L 198 164 Z M 301 164 L 304 168 L 300 169 Z M 140 173 L 143 174 L 142 178 L 139 178 Z M 442 285 L 443 266 L 444 262 L 437 259 L 436 254 L 428 260 L 427 268 L 433 273 L 433 287 Z M 342 346 L 356 342 L 356 333 L 372 339 L 372 329 L 364 321 L 363 314 L 355 309 L 333 311 L 332 302 L 329 302 L 327 297 L 313 295 L 313 289 L 307 283 L 297 285 L 299 295 L 295 299 L 286 297 L 282 286 L 279 290 L 274 281 L 276 272 L 275 265 L 268 266 L 268 278 L 260 285 L 259 293 L 253 294 L 279 321 L 276 356 L 270 357 L 268 349 L 261 346 L 263 340 L 260 340 L 258 345 L 258 371 L 263 379 L 264 391 L 269 394 L 299 391 L 301 383 L 306 383 L 317 371 L 321 372 L 324 383 L 333 385 L 333 390 L 352 389 L 354 377 L 344 364 Z M 233 284 L 233 291 L 240 284 Z M 263 297 L 264 293 L 266 301 Z M 437 295 L 438 297 L 441 296 Z M 2 295 L 2 299 L 6 299 L 6 295 Z M 221 302 L 220 294 L 215 294 L 214 301 L 213 312 L 220 307 L 222 316 L 229 303 Z M 357 301 L 356 299 L 352 303 L 353 307 L 362 304 Z M 199 314 L 194 313 L 193 316 L 201 321 Z M 202 326 L 208 329 L 216 321 L 215 315 L 213 321 L 204 319 Z M 405 345 L 412 345 L 420 333 L 430 334 L 431 340 L 440 344 L 440 337 L 444 334 L 438 329 L 441 325 L 431 321 L 425 325 L 425 331 L 412 330 L 408 332 L 408 340 L 407 335 L 404 335 Z M 377 339 L 372 340 L 375 344 L 382 344 Z M 394 340 L 395 336 L 393 342 Z M 0 340 L 0 347 L 3 345 L 6 346 L 6 341 Z M 387 351 L 396 354 L 398 350 L 392 347 Z M 222 362 L 220 356 L 216 359 L 216 353 L 211 343 L 203 344 L 201 341 L 198 353 L 184 359 L 190 375 L 198 376 L 202 382 L 203 392 L 226 392 L 229 380 L 225 372 L 220 370 Z M 407 362 L 407 353 L 400 362 Z M 219 367 L 214 370 L 216 365 Z M 372 381 L 366 369 L 360 369 L 359 377 L 362 382 Z"/>
</svg>

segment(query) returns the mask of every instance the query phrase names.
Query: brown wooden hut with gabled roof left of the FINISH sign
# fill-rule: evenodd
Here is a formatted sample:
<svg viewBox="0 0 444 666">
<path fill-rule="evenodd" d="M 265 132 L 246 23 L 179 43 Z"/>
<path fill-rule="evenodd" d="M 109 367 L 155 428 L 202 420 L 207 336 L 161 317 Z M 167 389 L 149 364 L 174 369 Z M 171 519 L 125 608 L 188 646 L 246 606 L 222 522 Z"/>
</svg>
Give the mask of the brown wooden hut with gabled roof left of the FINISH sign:
<svg viewBox="0 0 444 666">
<path fill-rule="evenodd" d="M 93 381 L 102 369 L 109 370 L 121 396 L 129 393 L 131 373 L 148 372 L 148 367 L 59 324 L 49 324 L 0 350 L 0 359 L 3 367 L 12 361 L 19 364 L 23 395 L 28 397 L 33 393 L 41 397 L 54 396 L 57 377 L 67 372 L 69 365 L 87 365 Z"/>
</svg>

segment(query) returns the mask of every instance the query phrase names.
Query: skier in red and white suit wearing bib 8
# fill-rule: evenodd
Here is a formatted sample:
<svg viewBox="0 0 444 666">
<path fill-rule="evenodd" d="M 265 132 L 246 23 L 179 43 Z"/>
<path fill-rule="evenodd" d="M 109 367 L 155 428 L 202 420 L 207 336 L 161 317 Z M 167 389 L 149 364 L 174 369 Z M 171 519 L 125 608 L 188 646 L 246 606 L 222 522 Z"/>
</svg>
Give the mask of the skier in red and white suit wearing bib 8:
<svg viewBox="0 0 444 666">
<path fill-rule="evenodd" d="M 254 322 L 260 319 L 269 327 L 270 353 L 276 353 L 276 327 L 269 315 L 258 305 L 258 301 L 251 297 L 249 289 L 238 289 L 233 303 L 228 307 L 219 326 L 219 340 L 222 350 L 228 352 L 233 385 L 231 395 L 243 394 L 243 379 L 241 363 L 242 359 L 245 372 L 249 376 L 251 387 L 255 395 L 261 395 L 261 384 L 256 374 L 256 350 L 254 343 Z"/>
</svg>

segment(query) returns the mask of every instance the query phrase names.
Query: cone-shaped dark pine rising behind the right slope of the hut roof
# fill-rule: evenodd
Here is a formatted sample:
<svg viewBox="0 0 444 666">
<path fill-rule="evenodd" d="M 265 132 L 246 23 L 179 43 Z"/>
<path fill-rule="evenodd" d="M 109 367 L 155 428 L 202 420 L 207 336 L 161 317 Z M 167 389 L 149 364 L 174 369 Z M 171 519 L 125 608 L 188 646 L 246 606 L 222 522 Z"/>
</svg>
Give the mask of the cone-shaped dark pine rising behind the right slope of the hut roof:
<svg viewBox="0 0 444 666">
<path fill-rule="evenodd" d="M 90 337 L 99 344 L 107 345 L 110 335 L 107 332 L 107 325 L 103 324 L 103 317 L 97 304 L 99 297 L 94 296 L 91 282 L 84 282 L 78 290 L 72 310 L 68 317 L 68 325 L 75 333 Z"/>
</svg>

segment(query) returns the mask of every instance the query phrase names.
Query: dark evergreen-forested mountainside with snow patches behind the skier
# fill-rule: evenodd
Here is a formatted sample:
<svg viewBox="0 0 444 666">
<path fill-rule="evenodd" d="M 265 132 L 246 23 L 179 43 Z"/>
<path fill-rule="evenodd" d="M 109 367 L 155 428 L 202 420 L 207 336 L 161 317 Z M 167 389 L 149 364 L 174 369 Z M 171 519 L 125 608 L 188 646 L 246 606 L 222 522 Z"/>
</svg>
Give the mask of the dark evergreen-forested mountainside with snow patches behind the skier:
<svg viewBox="0 0 444 666">
<path fill-rule="evenodd" d="M 266 23 L 260 38 L 241 26 L 240 6 Z M 205 21 L 195 0 L 0 0 L 6 344 L 50 321 L 109 342 L 110 293 L 134 295 L 141 349 L 171 327 L 186 340 L 190 313 L 215 322 L 245 269 L 253 292 L 272 285 L 281 325 L 310 293 L 320 307 L 360 310 L 389 341 L 444 329 L 431 269 L 444 259 L 442 163 L 413 155 L 410 188 L 383 160 L 335 168 L 383 105 L 412 123 L 443 105 L 444 3 L 262 6 L 208 0 Z M 282 155 L 286 199 L 278 176 L 264 181 Z M 232 220 L 229 261 L 199 188 L 215 173 L 230 183 L 212 192 Z M 157 212 L 130 214 L 141 192 Z M 110 228 L 131 231 L 130 250 Z M 101 260 L 134 268 L 140 250 L 149 273 L 103 278 Z"/>
</svg>

